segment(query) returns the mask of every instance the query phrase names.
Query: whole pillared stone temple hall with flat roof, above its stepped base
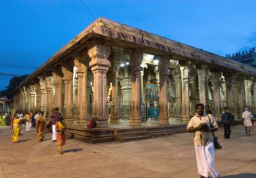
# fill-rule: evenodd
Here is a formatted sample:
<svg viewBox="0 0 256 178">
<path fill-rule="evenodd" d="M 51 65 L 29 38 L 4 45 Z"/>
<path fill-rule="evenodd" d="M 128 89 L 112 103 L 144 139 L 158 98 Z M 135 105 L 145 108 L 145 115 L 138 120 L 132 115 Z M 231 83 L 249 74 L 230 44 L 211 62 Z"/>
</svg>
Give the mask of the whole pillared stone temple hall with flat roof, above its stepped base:
<svg viewBox="0 0 256 178">
<path fill-rule="evenodd" d="M 14 91 L 12 112 L 59 107 L 70 128 L 94 118 L 111 124 L 187 123 L 196 103 L 220 120 L 256 112 L 256 70 L 211 52 L 98 18 L 46 60 Z M 127 124 L 128 125 L 128 124 Z"/>
</svg>

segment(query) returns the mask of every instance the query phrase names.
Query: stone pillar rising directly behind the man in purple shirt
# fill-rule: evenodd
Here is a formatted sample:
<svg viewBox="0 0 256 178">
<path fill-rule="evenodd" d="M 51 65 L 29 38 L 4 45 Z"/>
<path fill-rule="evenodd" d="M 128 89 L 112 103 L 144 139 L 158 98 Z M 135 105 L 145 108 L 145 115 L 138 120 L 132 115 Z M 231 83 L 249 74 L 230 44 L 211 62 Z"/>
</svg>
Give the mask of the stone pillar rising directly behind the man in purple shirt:
<svg viewBox="0 0 256 178">
<path fill-rule="evenodd" d="M 54 94 L 54 107 L 59 108 L 59 112 L 62 113 L 62 73 L 61 71 L 53 71 L 53 87 L 55 89 Z"/>
</svg>

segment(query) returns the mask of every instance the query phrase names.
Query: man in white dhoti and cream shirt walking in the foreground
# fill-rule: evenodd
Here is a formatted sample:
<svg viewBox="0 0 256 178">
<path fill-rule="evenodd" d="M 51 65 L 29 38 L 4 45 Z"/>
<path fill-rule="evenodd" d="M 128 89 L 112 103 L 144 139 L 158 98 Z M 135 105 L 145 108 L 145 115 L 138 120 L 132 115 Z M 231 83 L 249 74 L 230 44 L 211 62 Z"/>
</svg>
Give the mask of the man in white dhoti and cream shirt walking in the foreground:
<svg viewBox="0 0 256 178">
<path fill-rule="evenodd" d="M 219 177 L 220 174 L 214 168 L 214 136 L 212 135 L 212 132 L 218 130 L 218 124 L 211 114 L 203 116 L 203 104 L 195 105 L 195 110 L 196 115 L 189 121 L 187 130 L 194 134 L 197 172 L 201 178 Z"/>
</svg>

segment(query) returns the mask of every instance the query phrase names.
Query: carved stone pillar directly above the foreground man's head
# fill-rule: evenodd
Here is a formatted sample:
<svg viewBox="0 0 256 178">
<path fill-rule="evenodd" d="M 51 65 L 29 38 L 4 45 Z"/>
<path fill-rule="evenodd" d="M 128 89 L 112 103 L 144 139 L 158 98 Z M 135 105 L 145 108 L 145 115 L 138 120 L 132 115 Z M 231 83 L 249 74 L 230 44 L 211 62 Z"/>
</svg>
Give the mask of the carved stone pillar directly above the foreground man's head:
<svg viewBox="0 0 256 178">
<path fill-rule="evenodd" d="M 203 105 L 208 105 L 209 94 L 208 94 L 208 70 L 207 66 L 199 66 L 198 73 L 198 84 L 199 84 L 199 101 Z"/>
</svg>

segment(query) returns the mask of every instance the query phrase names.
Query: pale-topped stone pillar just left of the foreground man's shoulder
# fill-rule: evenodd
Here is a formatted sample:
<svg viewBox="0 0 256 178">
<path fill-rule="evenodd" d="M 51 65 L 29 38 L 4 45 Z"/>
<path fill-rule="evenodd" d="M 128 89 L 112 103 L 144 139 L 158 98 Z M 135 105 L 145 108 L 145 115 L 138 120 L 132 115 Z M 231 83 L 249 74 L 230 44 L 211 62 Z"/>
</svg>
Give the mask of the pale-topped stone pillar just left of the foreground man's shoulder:
<svg viewBox="0 0 256 178">
<path fill-rule="evenodd" d="M 190 119 L 190 97 L 189 82 L 191 79 L 191 64 L 181 66 L 183 89 L 182 89 L 182 120 L 187 123 Z"/>
</svg>

